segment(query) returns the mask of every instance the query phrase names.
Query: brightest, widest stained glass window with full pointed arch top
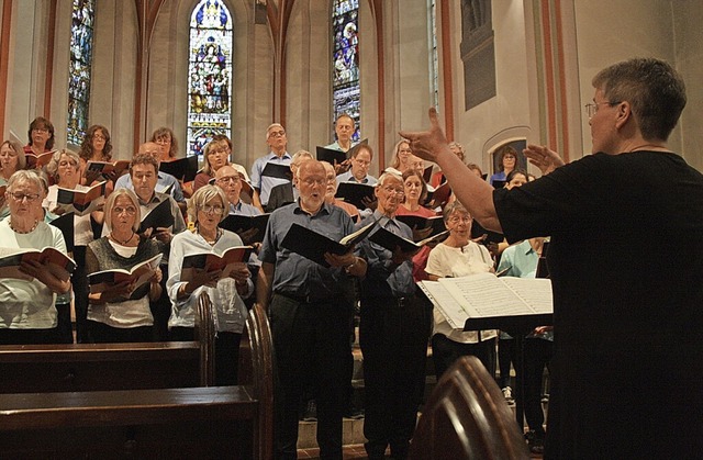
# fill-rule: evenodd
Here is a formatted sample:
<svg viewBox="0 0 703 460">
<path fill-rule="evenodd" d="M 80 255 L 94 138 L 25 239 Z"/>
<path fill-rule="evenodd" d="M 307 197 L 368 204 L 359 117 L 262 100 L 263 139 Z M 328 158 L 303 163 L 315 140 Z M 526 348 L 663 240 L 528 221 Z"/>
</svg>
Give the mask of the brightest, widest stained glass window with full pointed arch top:
<svg viewBox="0 0 703 460">
<path fill-rule="evenodd" d="M 215 134 L 232 136 L 232 15 L 221 0 L 201 0 L 190 16 L 188 155 Z"/>
</svg>

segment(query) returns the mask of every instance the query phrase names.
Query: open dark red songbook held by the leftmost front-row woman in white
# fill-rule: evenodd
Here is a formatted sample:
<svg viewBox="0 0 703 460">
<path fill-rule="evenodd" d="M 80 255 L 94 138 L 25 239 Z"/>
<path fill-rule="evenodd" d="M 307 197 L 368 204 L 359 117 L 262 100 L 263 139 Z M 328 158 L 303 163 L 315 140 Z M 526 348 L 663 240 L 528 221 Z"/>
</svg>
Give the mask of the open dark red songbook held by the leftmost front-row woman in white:
<svg viewBox="0 0 703 460">
<path fill-rule="evenodd" d="M 0 248 L 0 278 L 16 278 L 32 281 L 34 278 L 20 270 L 22 262 L 38 260 L 49 263 L 56 278 L 68 280 L 76 270 L 76 262 L 60 250 L 51 246 L 38 249 Z"/>
</svg>

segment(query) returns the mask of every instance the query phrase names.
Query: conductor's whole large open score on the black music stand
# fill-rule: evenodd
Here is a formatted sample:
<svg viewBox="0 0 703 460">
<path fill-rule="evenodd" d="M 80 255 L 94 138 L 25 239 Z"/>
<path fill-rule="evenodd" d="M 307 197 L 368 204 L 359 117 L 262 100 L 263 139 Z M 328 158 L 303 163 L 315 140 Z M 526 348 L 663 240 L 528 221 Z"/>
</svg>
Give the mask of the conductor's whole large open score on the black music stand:
<svg viewBox="0 0 703 460">
<path fill-rule="evenodd" d="M 534 326 L 551 324 L 551 281 L 547 279 L 477 273 L 417 285 L 456 329 L 507 329 L 498 318 L 521 316 L 534 316 Z"/>
</svg>

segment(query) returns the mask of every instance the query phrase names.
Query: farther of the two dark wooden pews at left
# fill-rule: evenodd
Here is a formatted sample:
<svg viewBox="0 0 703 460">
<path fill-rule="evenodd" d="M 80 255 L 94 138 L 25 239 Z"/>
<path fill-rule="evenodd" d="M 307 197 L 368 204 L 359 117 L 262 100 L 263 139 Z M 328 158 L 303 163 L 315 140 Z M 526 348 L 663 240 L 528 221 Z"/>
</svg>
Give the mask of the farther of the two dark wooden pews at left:
<svg viewBox="0 0 703 460">
<path fill-rule="evenodd" d="M 209 386 L 212 305 L 199 299 L 196 341 L 0 346 L 0 393 Z"/>
</svg>

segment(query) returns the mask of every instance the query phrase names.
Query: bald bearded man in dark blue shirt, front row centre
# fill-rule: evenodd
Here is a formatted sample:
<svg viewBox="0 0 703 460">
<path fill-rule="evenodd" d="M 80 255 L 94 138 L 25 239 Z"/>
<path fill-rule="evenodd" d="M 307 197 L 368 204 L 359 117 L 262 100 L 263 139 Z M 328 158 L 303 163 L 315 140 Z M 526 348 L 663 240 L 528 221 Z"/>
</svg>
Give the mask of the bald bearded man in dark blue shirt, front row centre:
<svg viewBox="0 0 703 460">
<path fill-rule="evenodd" d="M 341 307 L 354 292 L 352 277 L 366 273 L 366 261 L 352 251 L 327 254 L 323 267 L 281 246 L 293 223 L 332 239 L 354 232 L 352 217 L 325 203 L 327 180 L 320 161 L 298 170 L 298 202 L 271 213 L 259 259 L 257 302 L 268 308 L 278 369 L 276 388 L 277 458 L 294 459 L 298 412 L 303 392 L 315 390 L 321 458 L 342 458 L 342 417 L 348 375 L 350 308 Z"/>
</svg>

